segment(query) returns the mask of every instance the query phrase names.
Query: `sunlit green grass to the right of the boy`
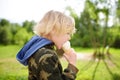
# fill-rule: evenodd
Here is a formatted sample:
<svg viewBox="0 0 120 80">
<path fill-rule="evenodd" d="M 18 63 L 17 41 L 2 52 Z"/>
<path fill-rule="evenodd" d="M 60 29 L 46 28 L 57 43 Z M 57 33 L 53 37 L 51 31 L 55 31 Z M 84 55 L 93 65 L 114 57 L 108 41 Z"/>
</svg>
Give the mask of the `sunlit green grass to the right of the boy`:
<svg viewBox="0 0 120 80">
<path fill-rule="evenodd" d="M 93 53 L 92 48 L 75 48 L 78 53 Z M 77 80 L 120 80 L 120 49 L 110 48 L 110 59 L 105 54 L 104 60 L 79 60 L 80 72 Z"/>
</svg>

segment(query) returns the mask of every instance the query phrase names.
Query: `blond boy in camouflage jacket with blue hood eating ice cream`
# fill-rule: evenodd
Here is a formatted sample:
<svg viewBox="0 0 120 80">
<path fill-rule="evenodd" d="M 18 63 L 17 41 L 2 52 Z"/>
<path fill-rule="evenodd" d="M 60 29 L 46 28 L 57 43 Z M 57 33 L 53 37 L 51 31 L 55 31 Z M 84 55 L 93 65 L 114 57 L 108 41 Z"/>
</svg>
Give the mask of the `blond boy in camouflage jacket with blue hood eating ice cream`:
<svg viewBox="0 0 120 80">
<path fill-rule="evenodd" d="M 66 42 L 68 44 L 70 36 L 75 32 L 74 20 L 51 10 L 34 27 L 34 32 L 36 36 L 16 56 L 19 62 L 28 65 L 28 79 L 75 80 L 78 72 L 75 67 L 76 53 L 72 48 L 65 50 L 66 44 L 64 45 Z M 64 71 L 58 58 L 61 50 L 64 50 L 63 56 L 68 61 L 68 67 Z"/>
</svg>

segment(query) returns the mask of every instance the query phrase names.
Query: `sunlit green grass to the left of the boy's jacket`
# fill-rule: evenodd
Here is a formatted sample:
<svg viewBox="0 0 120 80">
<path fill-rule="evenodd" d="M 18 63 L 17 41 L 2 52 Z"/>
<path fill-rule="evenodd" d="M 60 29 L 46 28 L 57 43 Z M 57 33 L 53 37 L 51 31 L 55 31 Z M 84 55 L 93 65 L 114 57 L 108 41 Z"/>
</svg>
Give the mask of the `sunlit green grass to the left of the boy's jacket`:
<svg viewBox="0 0 120 80">
<path fill-rule="evenodd" d="M 0 45 L 0 80 L 26 80 L 27 67 L 16 60 L 20 48 L 18 45 Z"/>
</svg>

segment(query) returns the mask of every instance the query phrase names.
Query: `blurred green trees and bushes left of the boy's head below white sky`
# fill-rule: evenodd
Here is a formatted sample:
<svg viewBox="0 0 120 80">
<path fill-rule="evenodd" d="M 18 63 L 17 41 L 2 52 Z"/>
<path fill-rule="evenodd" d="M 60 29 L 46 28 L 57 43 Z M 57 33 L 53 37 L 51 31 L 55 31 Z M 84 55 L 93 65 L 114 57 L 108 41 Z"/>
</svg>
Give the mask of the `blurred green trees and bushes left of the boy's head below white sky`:
<svg viewBox="0 0 120 80">
<path fill-rule="evenodd" d="M 9 23 L 6 19 L 0 20 L 0 44 L 25 44 L 33 35 L 32 27 L 35 22 L 25 21 L 23 26 L 18 23 Z"/>
</svg>

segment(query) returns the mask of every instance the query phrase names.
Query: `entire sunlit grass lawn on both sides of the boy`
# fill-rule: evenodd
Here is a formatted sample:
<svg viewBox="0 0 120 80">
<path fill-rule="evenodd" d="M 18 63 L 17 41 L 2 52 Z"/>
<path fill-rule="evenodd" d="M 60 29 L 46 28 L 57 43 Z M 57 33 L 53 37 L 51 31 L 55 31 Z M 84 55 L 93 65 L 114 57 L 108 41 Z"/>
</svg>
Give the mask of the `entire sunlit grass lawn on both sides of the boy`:
<svg viewBox="0 0 120 80">
<path fill-rule="evenodd" d="M 0 80 L 27 80 L 27 67 L 16 60 L 21 46 L 0 45 Z M 92 49 L 75 48 L 79 53 L 91 53 Z M 78 60 L 79 73 L 76 80 L 120 80 L 120 49 L 110 49 L 111 60 Z M 65 68 L 67 62 L 62 60 Z"/>
</svg>

